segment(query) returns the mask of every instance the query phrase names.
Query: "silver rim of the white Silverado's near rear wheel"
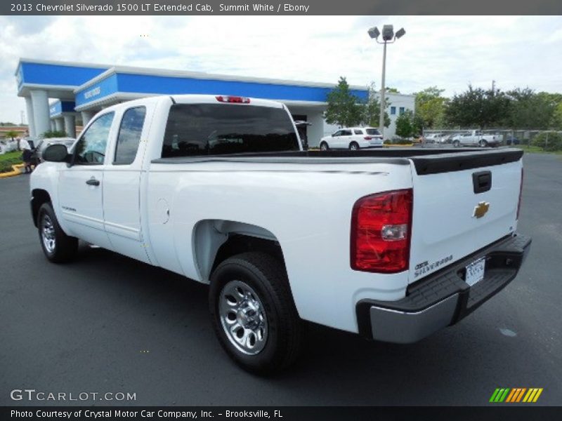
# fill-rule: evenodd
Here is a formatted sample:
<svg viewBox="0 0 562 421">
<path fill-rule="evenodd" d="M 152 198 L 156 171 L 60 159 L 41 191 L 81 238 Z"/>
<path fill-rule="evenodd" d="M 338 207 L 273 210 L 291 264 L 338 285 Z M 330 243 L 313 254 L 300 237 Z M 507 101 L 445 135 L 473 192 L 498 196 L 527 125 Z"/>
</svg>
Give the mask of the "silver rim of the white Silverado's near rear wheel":
<svg viewBox="0 0 562 421">
<path fill-rule="evenodd" d="M 255 355 L 266 346 L 266 311 L 256 291 L 247 283 L 226 283 L 219 298 L 218 314 L 226 337 L 240 352 Z"/>
</svg>

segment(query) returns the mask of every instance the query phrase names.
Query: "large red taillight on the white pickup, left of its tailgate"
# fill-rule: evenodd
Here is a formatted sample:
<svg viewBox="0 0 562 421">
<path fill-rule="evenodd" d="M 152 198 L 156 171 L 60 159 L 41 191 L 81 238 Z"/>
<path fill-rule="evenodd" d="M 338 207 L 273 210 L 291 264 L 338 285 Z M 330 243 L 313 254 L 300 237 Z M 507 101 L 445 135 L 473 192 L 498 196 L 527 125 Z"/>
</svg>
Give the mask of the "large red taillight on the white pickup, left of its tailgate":
<svg viewBox="0 0 562 421">
<path fill-rule="evenodd" d="M 408 268 L 412 189 L 365 196 L 351 215 L 351 268 L 393 274 Z"/>
</svg>

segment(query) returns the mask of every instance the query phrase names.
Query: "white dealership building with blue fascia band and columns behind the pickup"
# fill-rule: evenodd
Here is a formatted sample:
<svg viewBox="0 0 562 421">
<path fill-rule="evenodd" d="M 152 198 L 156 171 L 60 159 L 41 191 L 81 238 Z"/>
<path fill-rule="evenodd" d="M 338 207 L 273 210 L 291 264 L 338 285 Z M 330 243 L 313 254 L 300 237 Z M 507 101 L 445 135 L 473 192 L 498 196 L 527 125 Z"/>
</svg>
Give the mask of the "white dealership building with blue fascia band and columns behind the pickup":
<svg viewBox="0 0 562 421">
<path fill-rule="evenodd" d="M 322 136 L 337 128 L 322 117 L 327 94 L 334 88 L 330 83 L 25 58 L 18 62 L 15 77 L 18 95 L 25 98 L 32 137 L 49 130 L 64 130 L 74 138 L 77 119 L 85 126 L 104 107 L 149 95 L 183 93 L 240 95 L 283 102 L 295 120 L 311 123 L 306 127 L 311 146 L 317 146 Z M 351 86 L 351 92 L 361 100 L 367 99 L 365 86 Z M 414 96 L 386 96 L 391 116 L 391 125 L 384 131 L 388 139 L 395 135 L 398 115 L 407 109 L 414 110 Z"/>
</svg>

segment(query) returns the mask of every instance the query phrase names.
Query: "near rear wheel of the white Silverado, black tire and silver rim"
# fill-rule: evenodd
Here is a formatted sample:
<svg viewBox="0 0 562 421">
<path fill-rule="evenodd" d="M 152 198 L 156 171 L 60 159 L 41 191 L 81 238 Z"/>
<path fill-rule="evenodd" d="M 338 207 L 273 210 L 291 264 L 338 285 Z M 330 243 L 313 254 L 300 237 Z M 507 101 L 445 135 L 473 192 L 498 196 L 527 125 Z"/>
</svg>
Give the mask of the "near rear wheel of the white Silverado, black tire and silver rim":
<svg viewBox="0 0 562 421">
<path fill-rule="evenodd" d="M 242 253 L 216 267 L 209 311 L 218 341 L 244 370 L 272 374 L 299 355 L 302 321 L 285 267 L 266 253 Z"/>
</svg>

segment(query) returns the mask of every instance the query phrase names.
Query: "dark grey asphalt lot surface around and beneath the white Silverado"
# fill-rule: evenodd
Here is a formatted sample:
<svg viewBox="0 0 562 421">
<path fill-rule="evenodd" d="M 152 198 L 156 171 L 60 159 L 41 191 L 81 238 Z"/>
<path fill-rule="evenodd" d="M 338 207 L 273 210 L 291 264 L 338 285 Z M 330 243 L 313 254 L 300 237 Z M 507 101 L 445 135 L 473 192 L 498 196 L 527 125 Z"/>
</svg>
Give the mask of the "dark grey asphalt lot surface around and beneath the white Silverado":
<svg viewBox="0 0 562 421">
<path fill-rule="evenodd" d="M 82 245 L 49 263 L 28 176 L 0 180 L 0 405 L 13 389 L 134 393 L 133 405 L 487 405 L 497 387 L 542 387 L 562 405 L 562 156 L 524 157 L 518 277 L 456 326 L 414 345 L 309 326 L 301 359 L 261 378 L 218 345 L 207 287 Z M 321 287 L 321 286 L 320 286 Z"/>
</svg>

